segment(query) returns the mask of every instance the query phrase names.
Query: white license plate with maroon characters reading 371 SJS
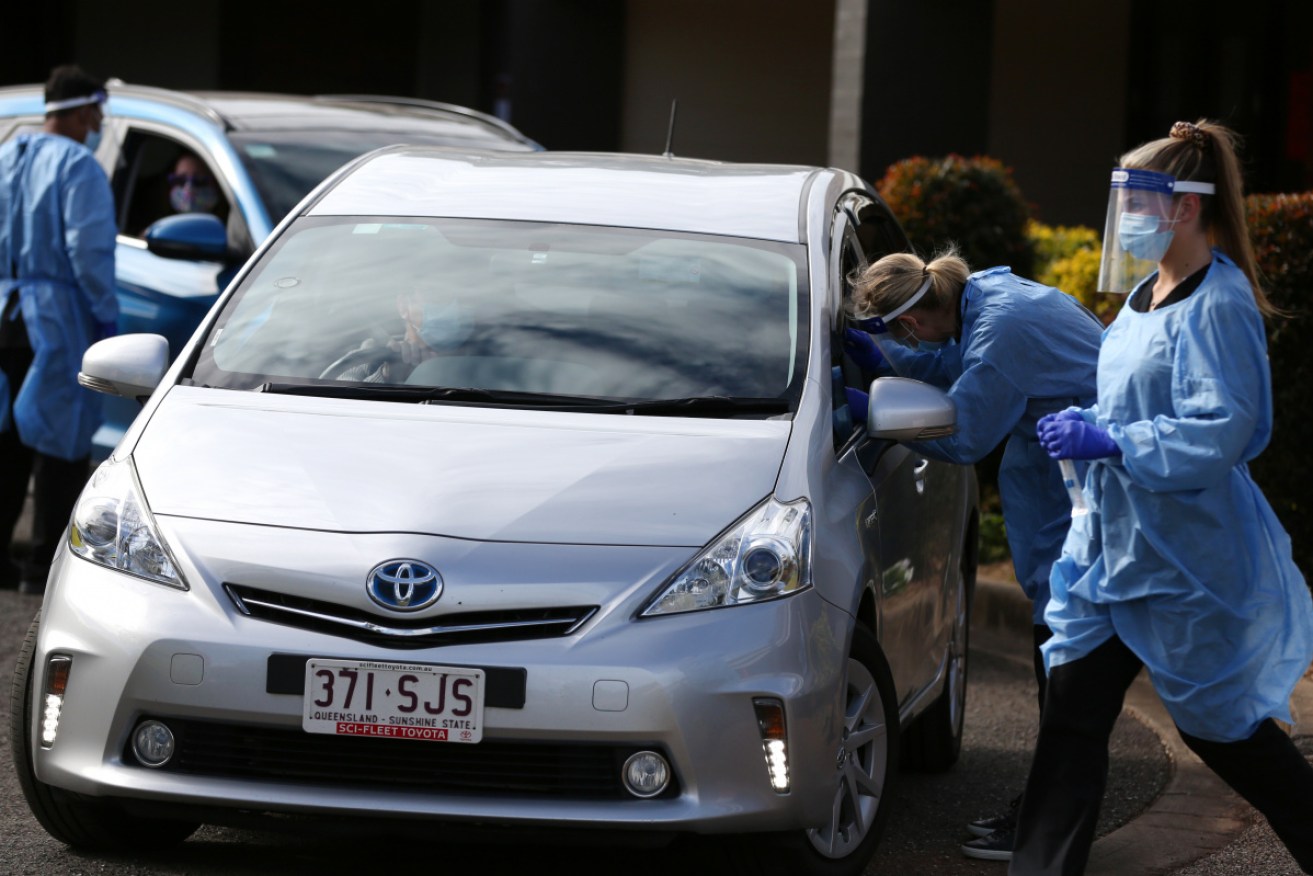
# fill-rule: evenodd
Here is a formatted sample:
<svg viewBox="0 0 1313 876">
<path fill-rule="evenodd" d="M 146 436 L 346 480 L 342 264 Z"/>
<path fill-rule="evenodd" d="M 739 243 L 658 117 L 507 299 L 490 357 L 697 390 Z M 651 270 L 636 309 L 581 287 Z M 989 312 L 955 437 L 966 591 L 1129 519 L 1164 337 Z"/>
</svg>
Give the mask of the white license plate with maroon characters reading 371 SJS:
<svg viewBox="0 0 1313 876">
<path fill-rule="evenodd" d="M 311 658 L 301 726 L 334 735 L 478 742 L 483 691 L 481 668 Z"/>
</svg>

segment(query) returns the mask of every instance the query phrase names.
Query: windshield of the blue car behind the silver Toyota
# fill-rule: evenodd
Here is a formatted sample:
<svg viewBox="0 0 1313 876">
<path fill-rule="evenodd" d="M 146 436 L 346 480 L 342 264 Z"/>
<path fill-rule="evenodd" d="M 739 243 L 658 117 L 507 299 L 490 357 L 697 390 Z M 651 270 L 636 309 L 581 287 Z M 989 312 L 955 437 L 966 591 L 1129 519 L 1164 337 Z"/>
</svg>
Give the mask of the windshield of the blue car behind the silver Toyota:
<svg viewBox="0 0 1313 876">
<path fill-rule="evenodd" d="M 395 143 L 470 148 L 528 148 L 511 143 L 491 129 L 474 125 L 435 131 L 310 130 L 234 131 L 242 164 L 260 192 L 269 219 L 277 223 L 320 180 L 372 150 Z"/>
</svg>

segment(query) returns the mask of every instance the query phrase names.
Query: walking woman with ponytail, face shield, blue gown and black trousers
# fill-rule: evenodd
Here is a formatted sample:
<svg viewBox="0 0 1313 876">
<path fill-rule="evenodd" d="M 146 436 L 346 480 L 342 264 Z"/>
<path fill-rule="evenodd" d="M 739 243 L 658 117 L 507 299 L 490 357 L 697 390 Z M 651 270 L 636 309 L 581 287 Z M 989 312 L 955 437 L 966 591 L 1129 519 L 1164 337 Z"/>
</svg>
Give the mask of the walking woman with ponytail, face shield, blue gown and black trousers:
<svg viewBox="0 0 1313 876">
<path fill-rule="evenodd" d="M 1313 602 L 1249 473 L 1272 428 L 1234 135 L 1176 122 L 1112 173 L 1100 289 L 1132 289 L 1098 403 L 1040 422 L 1088 460 L 1090 514 L 1053 567 L 1049 690 L 1010 873 L 1081 873 L 1127 687 L 1149 678 L 1186 743 L 1313 872 L 1313 767 L 1275 720 L 1313 658 Z"/>
</svg>

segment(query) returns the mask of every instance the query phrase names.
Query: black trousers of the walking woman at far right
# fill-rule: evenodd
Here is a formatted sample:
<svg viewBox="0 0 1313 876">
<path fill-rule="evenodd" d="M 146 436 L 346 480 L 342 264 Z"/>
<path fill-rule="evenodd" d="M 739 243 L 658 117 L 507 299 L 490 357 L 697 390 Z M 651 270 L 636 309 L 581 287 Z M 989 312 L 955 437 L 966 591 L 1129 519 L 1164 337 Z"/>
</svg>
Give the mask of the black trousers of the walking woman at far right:
<svg viewBox="0 0 1313 876">
<path fill-rule="evenodd" d="M 1142 663 L 1120 638 L 1049 674 L 1011 876 L 1077 876 L 1094 843 L 1108 780 L 1108 737 Z M 1178 728 L 1179 732 L 1179 728 Z M 1258 809 L 1305 873 L 1313 873 L 1313 766 L 1271 720 L 1249 739 L 1182 733 L 1208 767 Z"/>
</svg>

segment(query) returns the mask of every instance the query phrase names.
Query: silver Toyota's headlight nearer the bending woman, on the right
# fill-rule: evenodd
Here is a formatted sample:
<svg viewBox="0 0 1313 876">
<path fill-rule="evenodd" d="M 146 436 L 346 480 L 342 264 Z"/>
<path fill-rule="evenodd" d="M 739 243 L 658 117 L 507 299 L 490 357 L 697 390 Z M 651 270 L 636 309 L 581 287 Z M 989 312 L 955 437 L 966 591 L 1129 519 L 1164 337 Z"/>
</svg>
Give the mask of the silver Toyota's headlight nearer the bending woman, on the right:
<svg viewBox="0 0 1313 876">
<path fill-rule="evenodd" d="M 811 586 L 811 504 L 767 499 L 662 587 L 643 616 L 741 605 Z"/>
</svg>

